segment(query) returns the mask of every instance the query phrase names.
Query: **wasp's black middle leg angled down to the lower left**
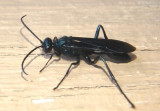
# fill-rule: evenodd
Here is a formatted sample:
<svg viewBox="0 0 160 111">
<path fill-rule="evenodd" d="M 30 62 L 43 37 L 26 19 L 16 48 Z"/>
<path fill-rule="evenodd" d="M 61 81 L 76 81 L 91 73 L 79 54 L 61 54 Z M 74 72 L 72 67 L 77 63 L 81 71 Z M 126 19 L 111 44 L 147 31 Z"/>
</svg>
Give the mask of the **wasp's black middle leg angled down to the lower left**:
<svg viewBox="0 0 160 111">
<path fill-rule="evenodd" d="M 69 70 L 71 69 L 72 65 L 78 65 L 79 63 L 80 63 L 80 59 L 78 57 L 77 58 L 77 62 L 71 63 L 71 65 L 69 66 L 66 74 L 64 75 L 64 77 L 62 78 L 62 80 L 58 83 L 58 85 L 54 88 L 54 90 L 56 90 L 60 86 L 60 84 L 63 82 L 63 80 L 68 76 Z"/>
</svg>

